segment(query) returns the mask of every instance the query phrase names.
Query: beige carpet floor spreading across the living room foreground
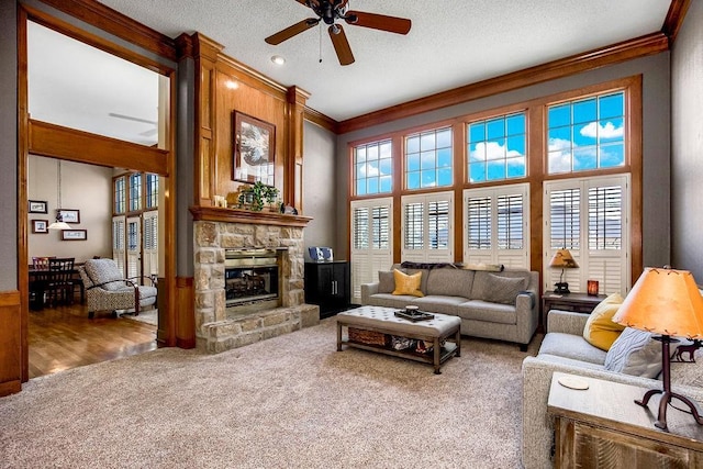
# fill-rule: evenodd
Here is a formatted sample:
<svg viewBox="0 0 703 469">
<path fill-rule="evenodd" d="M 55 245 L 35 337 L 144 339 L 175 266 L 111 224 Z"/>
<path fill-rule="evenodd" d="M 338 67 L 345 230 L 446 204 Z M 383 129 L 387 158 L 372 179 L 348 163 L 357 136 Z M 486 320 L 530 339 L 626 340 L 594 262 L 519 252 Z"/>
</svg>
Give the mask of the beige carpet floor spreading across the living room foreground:
<svg viewBox="0 0 703 469">
<path fill-rule="evenodd" d="M 41 377 L 0 399 L 0 467 L 518 467 L 527 353 L 462 347 L 436 376 L 337 353 L 331 317 L 219 355 L 166 348 Z"/>
</svg>

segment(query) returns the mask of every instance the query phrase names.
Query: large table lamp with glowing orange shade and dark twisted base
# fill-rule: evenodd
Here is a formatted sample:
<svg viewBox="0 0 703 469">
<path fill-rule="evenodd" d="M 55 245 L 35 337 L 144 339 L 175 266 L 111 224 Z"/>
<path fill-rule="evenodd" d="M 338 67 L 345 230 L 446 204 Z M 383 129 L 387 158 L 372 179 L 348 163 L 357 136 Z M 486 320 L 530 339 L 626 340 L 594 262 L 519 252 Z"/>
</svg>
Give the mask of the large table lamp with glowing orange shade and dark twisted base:
<svg viewBox="0 0 703 469">
<path fill-rule="evenodd" d="M 652 337 L 661 342 L 662 390 L 652 389 L 641 400 L 635 401 L 644 407 L 649 399 L 661 393 L 659 414 L 655 426 L 667 429 L 667 406 L 676 398 L 691 410 L 695 421 L 703 425 L 703 417 L 689 398 L 671 391 L 671 359 L 669 344 L 678 342 L 676 337 L 689 339 L 703 338 L 703 297 L 691 272 L 673 270 L 670 267 L 645 268 L 629 294 L 613 316 L 613 322 L 647 331 L 660 336 Z"/>
</svg>

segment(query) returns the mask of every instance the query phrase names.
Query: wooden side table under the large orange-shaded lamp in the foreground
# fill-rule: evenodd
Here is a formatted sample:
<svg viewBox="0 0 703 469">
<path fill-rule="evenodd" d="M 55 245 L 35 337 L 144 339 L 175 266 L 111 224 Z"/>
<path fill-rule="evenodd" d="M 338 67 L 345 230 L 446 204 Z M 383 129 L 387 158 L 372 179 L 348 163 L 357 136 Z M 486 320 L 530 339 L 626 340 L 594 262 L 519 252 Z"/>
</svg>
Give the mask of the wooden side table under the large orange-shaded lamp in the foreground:
<svg viewBox="0 0 703 469">
<path fill-rule="evenodd" d="M 648 409 L 635 404 L 647 389 L 578 377 L 585 391 L 566 388 L 551 378 L 547 412 L 555 417 L 556 468 L 700 468 L 703 426 L 671 406 L 669 431 L 655 426 L 659 399 Z M 577 378 L 571 376 L 571 378 Z"/>
</svg>

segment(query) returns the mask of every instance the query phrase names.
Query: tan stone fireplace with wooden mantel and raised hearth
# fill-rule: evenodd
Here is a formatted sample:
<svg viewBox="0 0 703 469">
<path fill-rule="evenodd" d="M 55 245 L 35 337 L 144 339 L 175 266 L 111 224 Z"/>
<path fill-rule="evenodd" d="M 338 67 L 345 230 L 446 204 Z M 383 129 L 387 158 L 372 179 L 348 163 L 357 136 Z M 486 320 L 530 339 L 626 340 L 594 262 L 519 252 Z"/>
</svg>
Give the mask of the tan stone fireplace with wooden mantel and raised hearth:
<svg viewBox="0 0 703 469">
<path fill-rule="evenodd" d="M 319 306 L 304 302 L 309 219 L 215 208 L 191 212 L 198 348 L 220 353 L 320 322 Z"/>
</svg>

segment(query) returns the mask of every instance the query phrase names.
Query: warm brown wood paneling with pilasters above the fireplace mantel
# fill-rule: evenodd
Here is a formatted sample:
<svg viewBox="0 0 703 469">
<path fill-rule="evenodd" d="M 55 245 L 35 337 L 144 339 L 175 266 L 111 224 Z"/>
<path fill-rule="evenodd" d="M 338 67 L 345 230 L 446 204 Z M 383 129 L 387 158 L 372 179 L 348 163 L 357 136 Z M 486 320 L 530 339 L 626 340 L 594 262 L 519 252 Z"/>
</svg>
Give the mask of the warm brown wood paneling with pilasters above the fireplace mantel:
<svg viewBox="0 0 703 469">
<path fill-rule="evenodd" d="M 209 206 L 213 196 L 236 192 L 234 112 L 276 126 L 275 186 L 302 212 L 303 115 L 309 94 L 286 88 L 222 53 L 223 46 L 196 33 L 181 35 L 182 53 L 196 60 L 196 194 Z"/>
</svg>

